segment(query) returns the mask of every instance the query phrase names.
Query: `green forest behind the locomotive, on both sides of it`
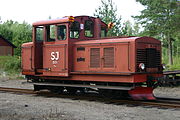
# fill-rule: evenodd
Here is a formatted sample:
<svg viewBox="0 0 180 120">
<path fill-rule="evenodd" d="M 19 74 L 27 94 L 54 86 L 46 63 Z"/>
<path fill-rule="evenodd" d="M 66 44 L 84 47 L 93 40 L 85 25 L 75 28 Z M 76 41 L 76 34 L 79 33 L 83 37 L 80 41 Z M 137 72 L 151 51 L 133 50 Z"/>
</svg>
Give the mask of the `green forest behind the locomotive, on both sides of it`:
<svg viewBox="0 0 180 120">
<path fill-rule="evenodd" d="M 106 24 L 113 23 L 108 36 L 150 36 L 162 42 L 162 63 L 166 70 L 180 70 L 180 1 L 136 0 L 144 6 L 139 16 L 132 16 L 135 23 L 122 22 L 113 0 L 101 0 L 94 16 Z M 51 17 L 49 17 L 51 18 Z M 8 73 L 21 71 L 21 45 L 32 41 L 32 26 L 27 22 L 0 21 L 0 35 L 17 48 L 14 56 L 0 56 L 0 70 Z M 15 71 L 15 72 L 14 72 Z"/>
</svg>

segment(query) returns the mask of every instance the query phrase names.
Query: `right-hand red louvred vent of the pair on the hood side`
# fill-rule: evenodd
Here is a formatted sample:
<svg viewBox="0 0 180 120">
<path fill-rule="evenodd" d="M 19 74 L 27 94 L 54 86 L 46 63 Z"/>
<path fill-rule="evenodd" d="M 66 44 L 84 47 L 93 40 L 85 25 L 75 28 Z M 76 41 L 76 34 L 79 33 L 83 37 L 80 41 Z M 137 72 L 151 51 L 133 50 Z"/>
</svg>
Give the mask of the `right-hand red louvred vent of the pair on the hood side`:
<svg viewBox="0 0 180 120">
<path fill-rule="evenodd" d="M 114 48 L 104 48 L 104 66 L 105 68 L 114 67 Z"/>
</svg>

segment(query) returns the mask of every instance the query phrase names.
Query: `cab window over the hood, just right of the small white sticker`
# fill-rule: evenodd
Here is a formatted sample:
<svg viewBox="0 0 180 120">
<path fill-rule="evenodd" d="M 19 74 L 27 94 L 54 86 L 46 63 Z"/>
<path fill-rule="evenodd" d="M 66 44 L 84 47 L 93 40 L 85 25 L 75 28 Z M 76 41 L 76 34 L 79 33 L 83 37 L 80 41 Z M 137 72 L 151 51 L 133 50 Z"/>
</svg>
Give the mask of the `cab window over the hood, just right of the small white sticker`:
<svg viewBox="0 0 180 120">
<path fill-rule="evenodd" d="M 91 20 L 85 21 L 85 36 L 93 37 L 94 34 L 94 23 Z"/>
</svg>

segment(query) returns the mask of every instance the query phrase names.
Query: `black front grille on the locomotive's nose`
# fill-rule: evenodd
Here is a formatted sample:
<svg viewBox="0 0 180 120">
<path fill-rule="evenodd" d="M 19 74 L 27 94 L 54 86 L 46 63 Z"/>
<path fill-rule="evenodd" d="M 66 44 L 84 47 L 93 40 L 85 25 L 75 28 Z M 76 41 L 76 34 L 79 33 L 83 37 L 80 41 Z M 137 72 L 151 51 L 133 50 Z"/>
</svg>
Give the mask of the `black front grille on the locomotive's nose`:
<svg viewBox="0 0 180 120">
<path fill-rule="evenodd" d="M 144 63 L 146 68 L 158 68 L 161 64 L 160 51 L 155 48 L 146 48 L 137 50 L 137 68 L 140 63 Z"/>
</svg>

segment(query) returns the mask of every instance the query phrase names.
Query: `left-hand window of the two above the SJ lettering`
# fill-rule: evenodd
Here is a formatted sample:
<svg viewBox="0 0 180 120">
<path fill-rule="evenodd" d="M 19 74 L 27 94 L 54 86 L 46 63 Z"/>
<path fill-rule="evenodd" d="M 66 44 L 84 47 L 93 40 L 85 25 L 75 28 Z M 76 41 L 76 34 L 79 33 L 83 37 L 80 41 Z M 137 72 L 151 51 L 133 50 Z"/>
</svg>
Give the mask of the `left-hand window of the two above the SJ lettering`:
<svg viewBox="0 0 180 120">
<path fill-rule="evenodd" d="M 46 26 L 47 42 L 55 41 L 55 25 Z"/>
</svg>

